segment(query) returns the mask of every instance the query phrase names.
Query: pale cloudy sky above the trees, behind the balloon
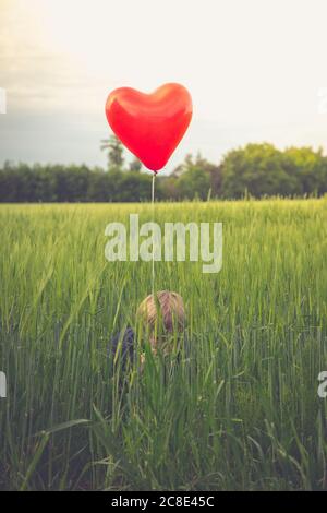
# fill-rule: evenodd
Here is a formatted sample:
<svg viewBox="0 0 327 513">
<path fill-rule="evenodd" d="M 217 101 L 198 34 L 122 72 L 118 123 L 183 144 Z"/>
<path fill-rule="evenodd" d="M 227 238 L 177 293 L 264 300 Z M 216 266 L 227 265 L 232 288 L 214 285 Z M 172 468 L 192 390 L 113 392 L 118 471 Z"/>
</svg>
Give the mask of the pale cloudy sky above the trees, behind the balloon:
<svg viewBox="0 0 327 513">
<path fill-rule="evenodd" d="M 105 166 L 110 91 L 166 82 L 194 106 L 166 172 L 250 142 L 327 153 L 326 21 L 326 0 L 0 0 L 0 165 Z"/>
</svg>

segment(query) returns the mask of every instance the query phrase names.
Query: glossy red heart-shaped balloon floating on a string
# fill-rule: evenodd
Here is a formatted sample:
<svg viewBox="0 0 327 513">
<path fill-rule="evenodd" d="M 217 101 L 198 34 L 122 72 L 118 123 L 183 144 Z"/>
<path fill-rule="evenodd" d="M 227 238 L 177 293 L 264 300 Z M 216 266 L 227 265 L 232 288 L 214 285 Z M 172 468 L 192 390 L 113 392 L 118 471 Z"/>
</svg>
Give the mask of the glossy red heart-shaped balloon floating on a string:
<svg viewBox="0 0 327 513">
<path fill-rule="evenodd" d="M 121 142 L 157 172 L 184 135 L 192 118 L 192 98 L 180 84 L 165 84 L 152 94 L 131 87 L 112 91 L 106 103 L 108 122 Z"/>
</svg>

